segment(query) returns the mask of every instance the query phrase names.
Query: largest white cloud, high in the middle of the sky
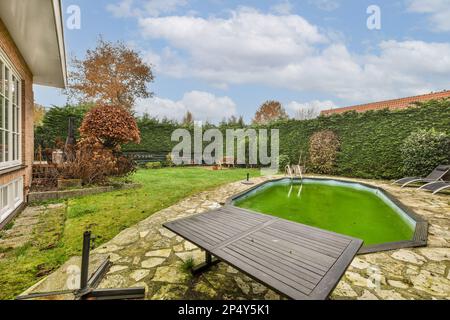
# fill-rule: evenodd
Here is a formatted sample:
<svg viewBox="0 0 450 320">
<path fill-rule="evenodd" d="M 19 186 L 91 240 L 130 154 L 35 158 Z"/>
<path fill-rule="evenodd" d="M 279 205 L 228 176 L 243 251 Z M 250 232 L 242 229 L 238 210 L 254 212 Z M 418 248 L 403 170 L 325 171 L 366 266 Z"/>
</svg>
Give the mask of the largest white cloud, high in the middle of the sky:
<svg viewBox="0 0 450 320">
<path fill-rule="evenodd" d="M 169 16 L 140 19 L 140 26 L 147 38 L 164 39 L 170 46 L 161 53 L 167 58 L 161 70 L 217 86 L 257 80 L 261 73 L 307 57 L 314 45 L 327 42 L 302 17 L 264 15 L 248 8 L 232 12 L 228 19 Z M 175 61 L 181 65 L 174 67 Z"/>
</svg>

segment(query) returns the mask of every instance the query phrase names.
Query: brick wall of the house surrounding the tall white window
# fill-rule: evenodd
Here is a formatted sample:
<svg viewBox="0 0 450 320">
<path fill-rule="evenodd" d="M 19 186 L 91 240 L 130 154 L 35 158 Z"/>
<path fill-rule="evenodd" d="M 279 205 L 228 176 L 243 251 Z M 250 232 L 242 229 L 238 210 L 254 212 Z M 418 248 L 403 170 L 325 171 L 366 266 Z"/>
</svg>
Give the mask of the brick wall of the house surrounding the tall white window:
<svg viewBox="0 0 450 320">
<path fill-rule="evenodd" d="M 0 49 L 8 57 L 22 78 L 22 163 L 25 169 L 2 173 L 0 171 L 0 185 L 8 183 L 20 176 L 24 177 L 25 193 L 31 185 L 31 173 L 34 160 L 34 131 L 33 131 L 33 75 L 14 44 L 8 30 L 0 19 Z"/>
</svg>

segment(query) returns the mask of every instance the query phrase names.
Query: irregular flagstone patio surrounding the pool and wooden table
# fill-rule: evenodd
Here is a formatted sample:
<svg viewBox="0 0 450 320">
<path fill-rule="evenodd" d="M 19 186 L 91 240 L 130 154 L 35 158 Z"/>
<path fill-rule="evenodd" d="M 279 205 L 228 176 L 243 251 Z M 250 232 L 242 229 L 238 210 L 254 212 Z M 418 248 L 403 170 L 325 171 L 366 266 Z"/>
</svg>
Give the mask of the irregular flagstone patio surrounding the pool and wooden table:
<svg viewBox="0 0 450 320">
<path fill-rule="evenodd" d="M 264 179 L 254 179 L 254 182 Z M 430 227 L 425 248 L 357 256 L 331 298 L 450 300 L 450 197 L 400 189 L 381 181 L 343 180 L 384 188 L 428 220 Z M 108 255 L 113 262 L 100 287 L 143 286 L 147 299 L 282 299 L 224 263 L 192 277 L 183 271 L 184 262 L 192 258 L 200 263 L 204 254 L 162 227 L 164 222 L 218 208 L 226 198 L 247 188 L 237 182 L 202 192 L 153 214 L 95 249 L 92 270 Z M 79 257 L 70 259 L 27 293 L 76 287 L 79 265 Z"/>
</svg>

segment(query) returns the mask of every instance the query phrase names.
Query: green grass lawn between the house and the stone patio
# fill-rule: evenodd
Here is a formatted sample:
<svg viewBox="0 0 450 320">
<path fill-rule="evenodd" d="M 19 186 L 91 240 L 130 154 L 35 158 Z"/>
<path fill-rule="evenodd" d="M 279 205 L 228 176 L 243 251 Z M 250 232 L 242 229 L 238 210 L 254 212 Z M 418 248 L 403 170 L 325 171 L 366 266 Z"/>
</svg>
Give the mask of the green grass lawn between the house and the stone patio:
<svg viewBox="0 0 450 320">
<path fill-rule="evenodd" d="M 0 259 L 0 300 L 14 298 L 71 256 L 79 255 L 85 230 L 93 232 L 98 246 L 120 231 L 183 198 L 222 184 L 243 180 L 247 172 L 253 177 L 259 175 L 259 171 L 254 169 L 139 170 L 132 180 L 143 185 L 140 189 L 67 200 L 67 211 L 55 213 L 57 216 L 65 216 L 64 228 L 58 239 L 54 240 L 55 229 L 61 228 L 55 228 L 51 223 L 41 226 L 31 243 L 7 251 L 6 256 Z M 61 219 L 49 217 L 48 221 Z M 53 239 L 54 243 L 48 245 L 46 239 Z M 36 245 L 42 242 L 45 243 L 44 246 Z"/>
</svg>

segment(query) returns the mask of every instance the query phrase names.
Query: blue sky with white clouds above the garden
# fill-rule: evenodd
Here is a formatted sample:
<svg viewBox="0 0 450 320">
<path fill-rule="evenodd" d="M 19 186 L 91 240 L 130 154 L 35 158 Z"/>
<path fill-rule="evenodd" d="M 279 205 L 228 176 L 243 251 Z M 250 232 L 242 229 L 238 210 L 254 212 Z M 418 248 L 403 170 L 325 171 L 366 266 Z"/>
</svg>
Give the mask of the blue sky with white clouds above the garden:
<svg viewBox="0 0 450 320">
<path fill-rule="evenodd" d="M 136 110 L 199 120 L 243 115 L 265 100 L 297 110 L 343 107 L 450 89 L 450 0 L 63 0 L 81 9 L 66 28 L 69 58 L 101 34 L 154 65 L 154 98 Z M 381 29 L 367 27 L 377 5 Z M 65 19 L 68 18 L 67 13 Z M 63 105 L 35 87 L 37 103 Z"/>
</svg>

